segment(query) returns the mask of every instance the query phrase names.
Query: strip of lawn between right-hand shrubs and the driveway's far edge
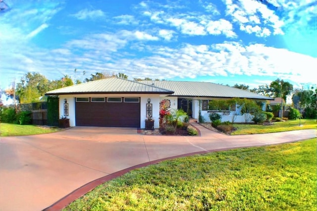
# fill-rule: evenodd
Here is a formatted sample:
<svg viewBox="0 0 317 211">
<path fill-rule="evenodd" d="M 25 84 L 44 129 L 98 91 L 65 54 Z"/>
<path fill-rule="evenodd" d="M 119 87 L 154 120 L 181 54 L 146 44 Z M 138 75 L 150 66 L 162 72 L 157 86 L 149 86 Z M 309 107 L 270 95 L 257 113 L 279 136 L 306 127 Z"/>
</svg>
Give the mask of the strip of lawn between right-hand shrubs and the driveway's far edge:
<svg viewBox="0 0 317 211">
<path fill-rule="evenodd" d="M 237 128 L 231 135 L 246 135 L 257 133 L 273 133 L 290 130 L 303 130 L 303 129 L 317 129 L 316 119 L 301 119 L 299 126 L 298 120 L 288 120 L 285 122 L 274 122 L 272 125 L 257 125 L 257 124 L 233 124 Z"/>
</svg>

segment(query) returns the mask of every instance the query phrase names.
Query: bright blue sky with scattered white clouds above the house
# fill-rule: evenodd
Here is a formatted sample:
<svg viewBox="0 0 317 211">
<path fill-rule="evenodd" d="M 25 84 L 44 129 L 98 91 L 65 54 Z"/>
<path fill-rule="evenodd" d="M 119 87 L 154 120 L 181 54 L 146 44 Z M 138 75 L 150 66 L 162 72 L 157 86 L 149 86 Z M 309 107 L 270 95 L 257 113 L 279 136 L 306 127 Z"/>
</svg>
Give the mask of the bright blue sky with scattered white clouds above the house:
<svg viewBox="0 0 317 211">
<path fill-rule="evenodd" d="M 27 72 L 315 85 L 316 0 L 267 2 L 0 0 L 0 88 Z"/>
</svg>

